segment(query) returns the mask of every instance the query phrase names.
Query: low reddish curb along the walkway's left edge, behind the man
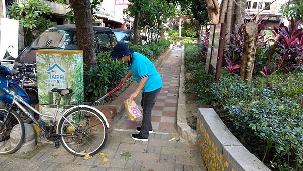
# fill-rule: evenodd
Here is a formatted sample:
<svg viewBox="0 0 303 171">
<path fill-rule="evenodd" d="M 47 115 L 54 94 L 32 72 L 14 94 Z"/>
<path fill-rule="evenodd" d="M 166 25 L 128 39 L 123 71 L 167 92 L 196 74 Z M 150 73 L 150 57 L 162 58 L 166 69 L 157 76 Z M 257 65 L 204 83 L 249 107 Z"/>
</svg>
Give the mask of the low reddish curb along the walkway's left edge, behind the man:
<svg viewBox="0 0 303 171">
<path fill-rule="evenodd" d="M 154 65 L 157 70 L 162 66 L 162 64 L 167 60 L 167 57 L 170 55 L 172 49 L 168 48 L 156 61 L 154 61 Z M 114 125 L 118 123 L 120 118 L 122 117 L 122 110 L 125 108 L 124 100 L 126 100 L 131 93 L 133 93 L 137 88 L 137 82 L 133 81 L 129 87 L 119 95 L 113 102 L 108 105 L 103 106 L 95 106 L 98 110 L 100 110 L 105 117 L 107 118 L 111 132 L 113 130 Z"/>
</svg>

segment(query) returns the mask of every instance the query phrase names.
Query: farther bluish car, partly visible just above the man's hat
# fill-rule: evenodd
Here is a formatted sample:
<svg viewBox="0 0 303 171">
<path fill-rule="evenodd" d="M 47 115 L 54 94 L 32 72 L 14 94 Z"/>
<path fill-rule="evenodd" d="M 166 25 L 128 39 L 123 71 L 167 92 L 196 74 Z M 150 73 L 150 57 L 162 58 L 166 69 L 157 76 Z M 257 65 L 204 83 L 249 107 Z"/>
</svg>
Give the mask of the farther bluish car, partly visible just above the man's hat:
<svg viewBox="0 0 303 171">
<path fill-rule="evenodd" d="M 126 44 L 131 44 L 134 41 L 134 31 L 130 29 L 121 29 L 121 28 L 115 28 L 113 29 L 117 40 L 119 42 L 124 42 Z M 138 44 L 142 44 L 142 36 L 139 33 L 139 42 Z"/>
</svg>

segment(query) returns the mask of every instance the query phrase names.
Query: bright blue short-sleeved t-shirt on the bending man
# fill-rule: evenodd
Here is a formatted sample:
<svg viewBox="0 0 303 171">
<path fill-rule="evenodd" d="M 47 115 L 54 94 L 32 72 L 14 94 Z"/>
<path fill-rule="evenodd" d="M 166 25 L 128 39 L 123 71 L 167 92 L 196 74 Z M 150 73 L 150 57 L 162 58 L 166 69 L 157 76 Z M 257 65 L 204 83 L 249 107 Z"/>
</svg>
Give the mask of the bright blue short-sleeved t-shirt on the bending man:
<svg viewBox="0 0 303 171">
<path fill-rule="evenodd" d="M 145 86 L 143 87 L 143 92 L 151 92 L 162 87 L 161 77 L 153 62 L 137 52 L 133 53 L 132 60 L 130 70 L 134 79 L 139 83 L 142 78 L 148 76 Z"/>
</svg>

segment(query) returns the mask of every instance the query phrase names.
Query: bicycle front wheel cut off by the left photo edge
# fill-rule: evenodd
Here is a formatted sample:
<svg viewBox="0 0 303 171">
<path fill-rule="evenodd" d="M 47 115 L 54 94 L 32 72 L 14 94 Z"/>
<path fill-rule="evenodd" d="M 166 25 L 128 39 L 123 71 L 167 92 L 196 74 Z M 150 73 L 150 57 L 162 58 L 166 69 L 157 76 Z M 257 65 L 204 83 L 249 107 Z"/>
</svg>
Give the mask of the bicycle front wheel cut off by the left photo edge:
<svg viewBox="0 0 303 171">
<path fill-rule="evenodd" d="M 19 150 L 24 140 L 24 123 L 13 110 L 0 107 L 0 154 L 11 154 Z"/>
</svg>

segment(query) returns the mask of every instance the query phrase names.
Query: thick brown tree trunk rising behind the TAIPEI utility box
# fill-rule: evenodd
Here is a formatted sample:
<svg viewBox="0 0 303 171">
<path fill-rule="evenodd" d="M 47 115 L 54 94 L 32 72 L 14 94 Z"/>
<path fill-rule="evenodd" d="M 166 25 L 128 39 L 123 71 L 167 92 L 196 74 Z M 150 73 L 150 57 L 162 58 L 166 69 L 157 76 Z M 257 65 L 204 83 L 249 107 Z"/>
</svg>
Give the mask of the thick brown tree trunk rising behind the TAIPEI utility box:
<svg viewBox="0 0 303 171">
<path fill-rule="evenodd" d="M 88 66 L 97 64 L 94 33 L 92 30 L 91 5 L 89 0 L 70 1 L 74 10 L 78 49 L 83 50 L 83 60 Z"/>
</svg>

